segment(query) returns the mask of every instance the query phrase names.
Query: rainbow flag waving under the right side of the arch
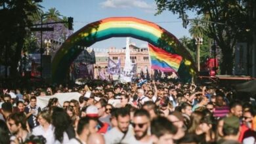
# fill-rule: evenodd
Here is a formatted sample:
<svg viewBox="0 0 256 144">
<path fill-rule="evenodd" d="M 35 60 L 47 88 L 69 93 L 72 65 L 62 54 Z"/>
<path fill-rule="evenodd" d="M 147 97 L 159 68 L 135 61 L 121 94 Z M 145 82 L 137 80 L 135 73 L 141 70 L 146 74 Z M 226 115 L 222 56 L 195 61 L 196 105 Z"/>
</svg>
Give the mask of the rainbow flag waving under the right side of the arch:
<svg viewBox="0 0 256 144">
<path fill-rule="evenodd" d="M 159 69 L 163 72 L 177 72 L 182 57 L 178 54 L 171 54 L 161 48 L 148 44 L 150 58 L 151 58 L 151 68 Z"/>
</svg>

